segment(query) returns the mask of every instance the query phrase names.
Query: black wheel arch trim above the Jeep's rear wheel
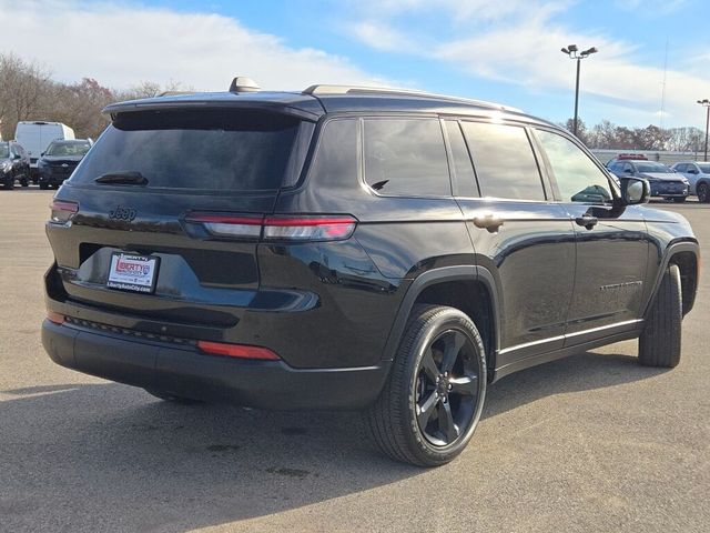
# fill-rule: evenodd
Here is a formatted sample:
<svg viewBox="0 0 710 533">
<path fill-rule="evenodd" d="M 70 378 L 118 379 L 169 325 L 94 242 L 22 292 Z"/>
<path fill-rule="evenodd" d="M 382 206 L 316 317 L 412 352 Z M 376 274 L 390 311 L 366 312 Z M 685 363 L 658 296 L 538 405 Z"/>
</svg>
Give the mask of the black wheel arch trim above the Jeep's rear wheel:
<svg viewBox="0 0 710 533">
<path fill-rule="evenodd" d="M 490 381 L 500 345 L 501 312 L 501 300 L 490 271 L 478 265 L 444 266 L 416 278 L 407 289 L 387 338 L 385 360 L 394 359 L 412 309 L 418 303 L 449 305 L 471 319 L 484 340 Z"/>
</svg>

